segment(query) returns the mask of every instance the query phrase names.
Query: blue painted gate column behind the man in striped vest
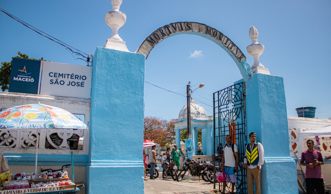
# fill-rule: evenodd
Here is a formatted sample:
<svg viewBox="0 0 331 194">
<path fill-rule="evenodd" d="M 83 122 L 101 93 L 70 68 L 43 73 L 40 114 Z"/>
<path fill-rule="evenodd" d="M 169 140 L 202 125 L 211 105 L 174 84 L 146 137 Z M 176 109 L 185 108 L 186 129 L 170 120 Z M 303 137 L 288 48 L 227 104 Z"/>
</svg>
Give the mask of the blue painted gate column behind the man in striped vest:
<svg viewBox="0 0 331 194">
<path fill-rule="evenodd" d="M 283 78 L 255 73 L 246 82 L 248 135 L 255 132 L 264 148 L 261 192 L 298 193 L 295 161 L 290 157 Z"/>
</svg>

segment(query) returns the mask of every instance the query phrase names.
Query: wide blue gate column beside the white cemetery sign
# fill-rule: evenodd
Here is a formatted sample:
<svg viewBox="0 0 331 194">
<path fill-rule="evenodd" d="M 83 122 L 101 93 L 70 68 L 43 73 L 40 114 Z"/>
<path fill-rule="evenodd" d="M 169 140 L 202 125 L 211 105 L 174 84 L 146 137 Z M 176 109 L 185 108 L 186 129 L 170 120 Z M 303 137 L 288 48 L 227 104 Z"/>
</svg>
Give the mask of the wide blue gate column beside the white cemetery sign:
<svg viewBox="0 0 331 194">
<path fill-rule="evenodd" d="M 144 193 L 144 73 L 144 55 L 95 51 L 87 193 Z"/>
</svg>

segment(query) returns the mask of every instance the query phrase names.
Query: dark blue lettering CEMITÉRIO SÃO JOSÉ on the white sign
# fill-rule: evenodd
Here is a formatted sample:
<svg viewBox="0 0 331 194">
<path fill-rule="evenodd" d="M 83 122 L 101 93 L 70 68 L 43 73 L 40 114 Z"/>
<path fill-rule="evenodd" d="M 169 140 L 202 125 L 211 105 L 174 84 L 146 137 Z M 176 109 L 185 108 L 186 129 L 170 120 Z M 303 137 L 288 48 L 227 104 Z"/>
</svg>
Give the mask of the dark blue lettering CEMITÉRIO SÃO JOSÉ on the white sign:
<svg viewBox="0 0 331 194">
<path fill-rule="evenodd" d="M 86 80 L 85 75 L 75 74 L 75 73 L 58 73 L 58 72 L 49 72 L 48 76 L 50 77 L 49 83 L 53 85 L 67 85 L 67 86 L 76 86 L 84 87 Z"/>
</svg>

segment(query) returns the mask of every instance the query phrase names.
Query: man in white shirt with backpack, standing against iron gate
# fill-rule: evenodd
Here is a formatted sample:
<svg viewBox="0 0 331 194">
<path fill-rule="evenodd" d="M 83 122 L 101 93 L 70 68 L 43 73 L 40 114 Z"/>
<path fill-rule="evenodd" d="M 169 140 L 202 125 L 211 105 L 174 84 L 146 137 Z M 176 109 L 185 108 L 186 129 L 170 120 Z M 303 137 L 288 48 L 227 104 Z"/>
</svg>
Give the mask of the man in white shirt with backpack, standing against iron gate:
<svg viewBox="0 0 331 194">
<path fill-rule="evenodd" d="M 225 193 L 225 188 L 227 186 L 227 182 L 231 182 L 231 194 L 233 194 L 234 185 L 237 182 L 236 172 L 238 172 L 239 165 L 239 154 L 237 145 L 231 142 L 231 136 L 225 136 L 226 144 L 223 148 L 223 156 L 222 156 L 222 169 L 225 170 L 226 179 L 223 182 L 223 191 L 222 194 Z"/>
</svg>

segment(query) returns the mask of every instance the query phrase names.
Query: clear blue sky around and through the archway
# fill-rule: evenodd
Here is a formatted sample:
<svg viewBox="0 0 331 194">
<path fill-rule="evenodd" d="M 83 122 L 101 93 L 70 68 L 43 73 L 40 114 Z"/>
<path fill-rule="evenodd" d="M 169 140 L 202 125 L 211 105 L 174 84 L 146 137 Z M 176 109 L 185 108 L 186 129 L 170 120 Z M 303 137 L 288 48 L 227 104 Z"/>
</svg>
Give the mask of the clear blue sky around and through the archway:
<svg viewBox="0 0 331 194">
<path fill-rule="evenodd" d="M 110 0 L 1 1 L 0 7 L 28 24 L 61 41 L 94 54 L 111 35 L 104 15 L 112 10 Z M 207 24 L 228 36 L 245 54 L 251 44 L 248 32 L 259 30 L 264 44 L 260 62 L 272 75 L 284 78 L 287 112 L 315 106 L 316 117 L 331 117 L 330 73 L 331 1 L 157 1 L 123 0 L 120 11 L 127 20 L 119 36 L 134 52 L 155 29 L 181 21 Z M 28 29 L 0 12 L 1 62 L 9 62 L 17 51 L 32 58 L 43 57 L 59 63 L 86 65 L 75 60 L 61 45 Z M 146 60 L 145 80 L 185 94 L 186 84 L 208 115 L 212 115 L 212 95 L 241 79 L 234 61 L 215 43 L 195 35 L 177 35 L 160 42 Z M 199 102 L 198 102 L 199 103 Z M 178 118 L 186 104 L 182 97 L 145 83 L 145 116 Z M 207 105 L 206 105 L 207 104 Z"/>
</svg>

